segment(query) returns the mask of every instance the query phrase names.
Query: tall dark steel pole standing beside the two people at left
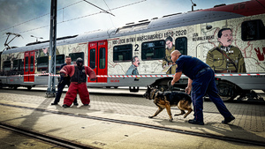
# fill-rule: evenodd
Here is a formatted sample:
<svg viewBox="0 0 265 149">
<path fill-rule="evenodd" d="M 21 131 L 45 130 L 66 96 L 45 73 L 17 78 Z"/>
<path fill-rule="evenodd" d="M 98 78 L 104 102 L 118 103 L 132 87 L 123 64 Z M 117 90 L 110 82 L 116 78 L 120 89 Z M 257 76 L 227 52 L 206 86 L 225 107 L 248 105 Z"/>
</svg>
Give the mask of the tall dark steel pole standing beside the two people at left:
<svg viewBox="0 0 265 149">
<path fill-rule="evenodd" d="M 56 49 L 57 49 L 57 0 L 50 4 L 50 29 L 49 29 L 49 79 L 46 97 L 55 97 L 56 74 Z"/>
</svg>

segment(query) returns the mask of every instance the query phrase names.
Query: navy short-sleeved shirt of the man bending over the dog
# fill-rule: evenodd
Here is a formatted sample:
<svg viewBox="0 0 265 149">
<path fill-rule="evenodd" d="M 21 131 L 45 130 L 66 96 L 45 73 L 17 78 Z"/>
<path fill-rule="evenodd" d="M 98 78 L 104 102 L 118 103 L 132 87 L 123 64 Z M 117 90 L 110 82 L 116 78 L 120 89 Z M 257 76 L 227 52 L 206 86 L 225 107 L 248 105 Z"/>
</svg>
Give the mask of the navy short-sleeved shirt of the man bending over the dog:
<svg viewBox="0 0 265 149">
<path fill-rule="evenodd" d="M 203 63 L 200 59 L 193 56 L 180 55 L 176 61 L 176 72 L 184 73 L 188 78 L 193 79 L 196 74 L 203 68 L 209 67 L 208 64 Z"/>
</svg>

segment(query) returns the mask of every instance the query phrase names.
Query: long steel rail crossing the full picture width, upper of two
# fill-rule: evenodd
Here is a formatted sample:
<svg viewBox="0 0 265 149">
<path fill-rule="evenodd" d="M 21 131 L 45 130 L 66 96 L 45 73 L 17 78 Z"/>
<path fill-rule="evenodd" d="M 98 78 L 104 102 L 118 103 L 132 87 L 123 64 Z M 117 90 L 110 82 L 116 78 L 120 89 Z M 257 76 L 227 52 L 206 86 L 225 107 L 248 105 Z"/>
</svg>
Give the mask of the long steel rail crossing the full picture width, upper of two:
<svg viewBox="0 0 265 149">
<path fill-rule="evenodd" d="M 111 119 L 111 118 L 104 118 L 104 117 L 99 117 L 99 116 L 80 115 L 80 114 L 76 115 L 76 114 L 72 114 L 72 113 L 53 111 L 53 110 L 43 109 L 43 108 L 30 108 L 30 107 L 11 105 L 11 104 L 5 104 L 5 103 L 0 103 L 0 105 L 13 107 L 13 108 L 27 108 L 27 109 L 32 109 L 32 110 L 36 110 L 36 111 L 57 114 L 57 115 L 70 115 L 70 116 L 82 117 L 82 118 L 111 122 L 111 123 L 129 124 L 129 125 L 133 125 L 133 126 L 139 126 L 139 127 L 144 127 L 144 128 L 154 129 L 154 130 L 166 130 L 166 131 L 170 131 L 170 132 L 176 132 L 176 133 L 198 136 L 198 137 L 203 137 L 203 138 L 215 138 L 215 139 L 223 140 L 223 141 L 237 142 L 237 143 L 241 143 L 241 144 L 245 144 L 245 145 L 265 146 L 265 142 L 255 141 L 255 140 L 250 140 L 250 139 L 244 139 L 244 138 L 231 138 L 231 137 L 226 137 L 226 136 L 213 135 L 213 134 L 209 134 L 209 133 L 194 132 L 194 131 L 190 131 L 190 130 L 179 130 L 179 129 L 173 129 L 173 128 L 168 128 L 168 127 L 163 127 L 163 126 L 147 124 L 147 123 L 136 123 L 136 122 L 130 122 L 130 121 Z"/>
</svg>

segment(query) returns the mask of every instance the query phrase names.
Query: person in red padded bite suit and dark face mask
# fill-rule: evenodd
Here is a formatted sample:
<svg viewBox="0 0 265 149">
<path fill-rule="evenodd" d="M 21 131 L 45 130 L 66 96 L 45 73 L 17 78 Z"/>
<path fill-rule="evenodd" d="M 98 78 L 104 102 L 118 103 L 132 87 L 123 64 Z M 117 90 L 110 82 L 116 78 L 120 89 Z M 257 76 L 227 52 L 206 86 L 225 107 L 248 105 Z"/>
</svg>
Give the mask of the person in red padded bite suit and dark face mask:
<svg viewBox="0 0 265 149">
<path fill-rule="evenodd" d="M 76 65 L 65 65 L 61 71 L 61 76 L 70 76 L 71 85 L 69 86 L 68 92 L 64 97 L 64 108 L 69 108 L 72 105 L 77 93 L 84 104 L 88 106 L 90 99 L 87 91 L 87 75 L 90 80 L 95 80 L 95 72 L 88 66 L 83 66 L 84 61 L 82 58 L 76 60 Z"/>
</svg>

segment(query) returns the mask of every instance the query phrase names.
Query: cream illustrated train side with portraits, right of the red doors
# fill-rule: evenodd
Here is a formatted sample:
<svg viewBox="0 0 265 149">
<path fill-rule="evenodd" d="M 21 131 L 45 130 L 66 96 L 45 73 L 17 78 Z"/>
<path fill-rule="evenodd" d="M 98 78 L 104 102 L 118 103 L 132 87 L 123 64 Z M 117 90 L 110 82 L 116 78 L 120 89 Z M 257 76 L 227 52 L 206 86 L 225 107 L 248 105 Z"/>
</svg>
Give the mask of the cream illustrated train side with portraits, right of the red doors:
<svg viewBox="0 0 265 149">
<path fill-rule="evenodd" d="M 261 21 L 259 15 L 256 17 Z M 255 21 L 254 17 L 229 19 L 110 39 L 109 49 L 113 48 L 113 51 L 109 50 L 108 56 L 113 62 L 109 62 L 109 73 L 128 75 L 131 74 L 126 73 L 129 67 L 138 74 L 161 73 L 173 64 L 170 53 L 174 49 L 188 56 L 197 56 L 216 73 L 264 72 L 265 43 L 252 40 L 254 37 L 250 36 L 257 34 Z M 206 29 L 209 25 L 213 27 Z M 241 31 L 248 33 L 245 35 Z M 127 63 L 135 56 L 140 64 Z M 164 72 L 173 74 L 175 70 L 173 65 Z"/>
</svg>

